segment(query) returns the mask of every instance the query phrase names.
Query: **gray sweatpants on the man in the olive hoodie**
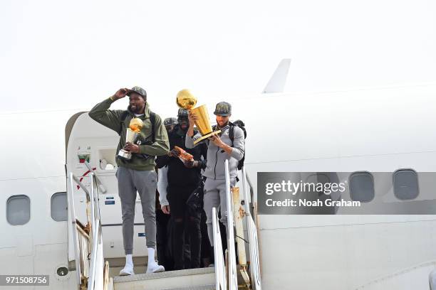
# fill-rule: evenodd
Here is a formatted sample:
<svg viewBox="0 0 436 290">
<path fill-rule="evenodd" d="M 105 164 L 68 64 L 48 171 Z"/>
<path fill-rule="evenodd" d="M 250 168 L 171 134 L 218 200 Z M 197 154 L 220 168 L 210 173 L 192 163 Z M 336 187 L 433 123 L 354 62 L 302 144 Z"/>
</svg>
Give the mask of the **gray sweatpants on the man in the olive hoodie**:
<svg viewBox="0 0 436 290">
<path fill-rule="evenodd" d="M 118 195 L 123 213 L 123 242 L 125 254 L 133 252 L 133 223 L 135 221 L 135 200 L 138 192 L 141 199 L 142 215 L 145 222 L 145 239 L 147 247 L 156 246 L 156 187 L 155 171 L 137 171 L 118 167 Z"/>
</svg>

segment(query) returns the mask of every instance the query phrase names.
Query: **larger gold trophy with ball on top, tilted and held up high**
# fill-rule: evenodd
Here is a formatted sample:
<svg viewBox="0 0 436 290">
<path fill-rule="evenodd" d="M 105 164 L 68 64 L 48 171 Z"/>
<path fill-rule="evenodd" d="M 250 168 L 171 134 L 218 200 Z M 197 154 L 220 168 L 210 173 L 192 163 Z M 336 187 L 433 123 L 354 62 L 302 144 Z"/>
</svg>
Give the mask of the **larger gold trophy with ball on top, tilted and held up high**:
<svg viewBox="0 0 436 290">
<path fill-rule="evenodd" d="M 205 104 L 194 108 L 195 104 L 197 104 L 197 98 L 194 97 L 189 90 L 185 89 L 178 92 L 176 102 L 177 106 L 182 109 L 190 110 L 190 112 L 193 112 L 198 117 L 197 121 L 195 121 L 195 126 L 197 126 L 197 129 L 202 136 L 195 140 L 194 144 L 197 144 L 198 142 L 221 132 L 221 130 L 212 130 L 212 126 L 209 122 L 209 114 L 207 113 L 207 107 Z"/>
</svg>

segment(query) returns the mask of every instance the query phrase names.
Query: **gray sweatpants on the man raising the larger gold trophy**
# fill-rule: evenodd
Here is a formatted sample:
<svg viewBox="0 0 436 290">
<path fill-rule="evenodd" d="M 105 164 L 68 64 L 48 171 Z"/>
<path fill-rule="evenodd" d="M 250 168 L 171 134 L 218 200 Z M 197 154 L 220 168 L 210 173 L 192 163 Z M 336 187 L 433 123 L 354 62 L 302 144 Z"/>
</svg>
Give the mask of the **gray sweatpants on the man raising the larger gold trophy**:
<svg viewBox="0 0 436 290">
<path fill-rule="evenodd" d="M 236 178 L 230 181 L 231 187 L 235 185 Z M 225 179 L 206 178 L 206 182 L 204 183 L 204 212 L 206 213 L 207 218 L 207 235 L 209 235 L 210 245 L 214 247 L 212 208 L 217 208 L 217 213 L 219 208 L 221 208 L 221 222 L 226 226 L 226 231 L 228 232 L 229 227 L 227 225 L 227 195 Z"/>
</svg>

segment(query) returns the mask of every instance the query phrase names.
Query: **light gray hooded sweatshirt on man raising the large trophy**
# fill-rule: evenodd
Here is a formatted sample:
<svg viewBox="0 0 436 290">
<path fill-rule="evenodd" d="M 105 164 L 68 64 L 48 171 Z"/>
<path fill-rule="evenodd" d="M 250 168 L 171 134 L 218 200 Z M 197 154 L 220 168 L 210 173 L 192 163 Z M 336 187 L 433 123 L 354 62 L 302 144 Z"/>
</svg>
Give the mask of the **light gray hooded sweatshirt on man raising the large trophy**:
<svg viewBox="0 0 436 290">
<path fill-rule="evenodd" d="M 244 131 L 241 128 L 235 126 L 233 128 L 234 140 L 232 145 L 232 140 L 229 138 L 229 125 L 221 128 L 221 140 L 232 147 L 232 154 L 227 154 L 223 149 L 220 149 L 217 145 L 209 140 L 207 142 L 207 166 L 204 170 L 203 176 L 212 179 L 226 179 L 224 176 L 224 161 L 229 160 L 229 173 L 230 178 L 237 177 L 238 161 L 244 157 L 245 151 L 245 139 Z M 187 148 L 194 148 L 198 144 L 194 145 L 194 140 L 201 137 L 202 135 L 197 133 L 192 138 L 186 135 L 185 146 Z"/>
</svg>

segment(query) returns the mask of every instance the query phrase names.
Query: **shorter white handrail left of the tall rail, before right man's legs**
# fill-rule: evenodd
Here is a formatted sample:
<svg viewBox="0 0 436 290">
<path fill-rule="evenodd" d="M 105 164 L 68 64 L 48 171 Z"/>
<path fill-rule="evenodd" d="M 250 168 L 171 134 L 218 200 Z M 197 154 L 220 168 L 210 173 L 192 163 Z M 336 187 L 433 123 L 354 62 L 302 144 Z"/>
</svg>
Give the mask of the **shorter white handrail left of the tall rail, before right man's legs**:
<svg viewBox="0 0 436 290">
<path fill-rule="evenodd" d="M 214 229 L 214 261 L 215 261 L 215 284 L 217 290 L 226 290 L 226 264 L 222 255 L 221 231 L 219 230 L 218 213 L 212 208 L 212 226 Z"/>
</svg>

